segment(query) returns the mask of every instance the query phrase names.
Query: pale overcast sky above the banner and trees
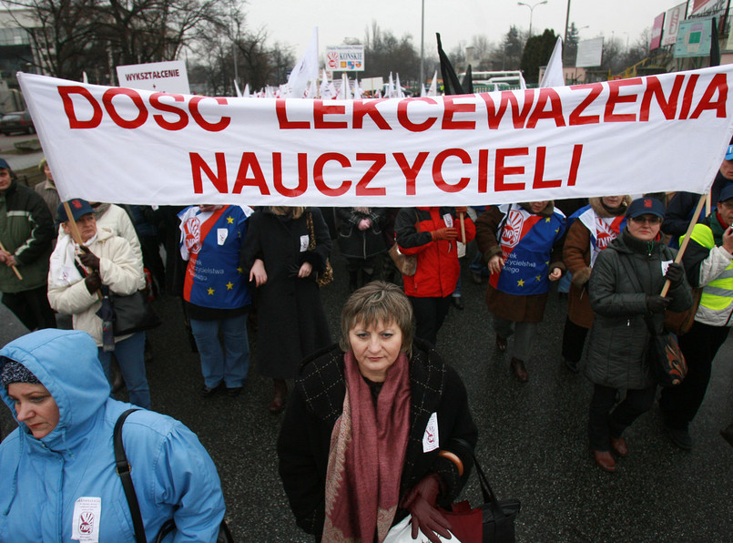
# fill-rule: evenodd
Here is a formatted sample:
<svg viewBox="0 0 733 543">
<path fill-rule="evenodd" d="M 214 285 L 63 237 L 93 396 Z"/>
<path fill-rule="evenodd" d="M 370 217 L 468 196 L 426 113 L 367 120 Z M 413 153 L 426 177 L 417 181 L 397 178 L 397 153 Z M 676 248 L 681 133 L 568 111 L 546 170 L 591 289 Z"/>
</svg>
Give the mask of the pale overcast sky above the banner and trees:
<svg viewBox="0 0 733 543">
<path fill-rule="evenodd" d="M 526 0 L 539 4 L 541 0 Z M 499 43 L 509 27 L 529 28 L 530 9 L 517 0 L 424 0 L 425 51 L 435 52 L 435 33 L 440 32 L 443 48 L 453 49 L 459 42 L 470 42 L 474 35 L 485 35 Z M 681 4 L 680 0 L 571 0 L 570 22 L 580 28 L 580 39 L 614 36 L 633 45 L 654 18 Z M 532 32 L 552 28 L 565 33 L 568 0 L 547 0 L 534 7 Z M 305 52 L 314 26 L 319 28 L 319 52 L 326 46 L 339 46 L 344 37 L 363 41 L 365 29 L 376 21 L 398 37 L 412 35 L 420 47 L 422 0 L 249 0 L 245 5 L 249 28 L 264 27 L 270 45 L 274 41 L 293 46 L 296 56 Z M 583 28 L 587 25 L 587 28 Z"/>
</svg>

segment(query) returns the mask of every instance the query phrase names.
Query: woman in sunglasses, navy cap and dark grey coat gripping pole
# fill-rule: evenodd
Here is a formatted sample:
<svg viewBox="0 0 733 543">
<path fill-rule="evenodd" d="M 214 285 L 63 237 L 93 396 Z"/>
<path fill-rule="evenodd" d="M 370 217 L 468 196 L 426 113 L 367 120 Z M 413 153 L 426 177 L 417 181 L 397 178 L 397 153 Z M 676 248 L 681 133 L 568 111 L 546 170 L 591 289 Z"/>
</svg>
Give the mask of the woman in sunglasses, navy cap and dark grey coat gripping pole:
<svg viewBox="0 0 733 543">
<path fill-rule="evenodd" d="M 667 307 L 685 311 L 692 304 L 677 251 L 658 240 L 664 206 L 653 198 L 631 202 L 626 228 L 600 251 L 588 282 L 593 327 L 585 375 L 593 383 L 588 409 L 588 437 L 596 464 L 616 471 L 628 449 L 622 437 L 654 403 L 657 381 L 646 356 L 650 333 L 646 321 L 661 330 Z M 662 287 L 670 282 L 669 294 Z M 617 394 L 626 390 L 618 403 Z"/>
</svg>

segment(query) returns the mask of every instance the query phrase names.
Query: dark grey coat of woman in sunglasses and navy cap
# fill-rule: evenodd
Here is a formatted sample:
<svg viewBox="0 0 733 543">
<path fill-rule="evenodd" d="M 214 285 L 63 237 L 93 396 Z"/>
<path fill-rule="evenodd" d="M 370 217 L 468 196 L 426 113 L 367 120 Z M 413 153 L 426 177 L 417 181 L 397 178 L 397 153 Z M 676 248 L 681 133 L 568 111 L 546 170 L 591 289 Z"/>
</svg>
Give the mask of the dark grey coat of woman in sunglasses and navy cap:
<svg viewBox="0 0 733 543">
<path fill-rule="evenodd" d="M 661 243 L 649 246 L 625 230 L 598 255 L 588 282 L 594 322 L 585 374 L 593 383 L 632 390 L 654 386 L 645 356 L 649 341 L 644 320 L 649 314 L 646 296 L 662 291 L 661 262 L 674 260 L 676 253 Z M 626 268 L 633 270 L 636 280 Z M 687 280 L 667 296 L 672 298 L 668 309 L 673 311 L 685 311 L 692 304 Z M 661 329 L 664 315 L 654 319 Z"/>
</svg>

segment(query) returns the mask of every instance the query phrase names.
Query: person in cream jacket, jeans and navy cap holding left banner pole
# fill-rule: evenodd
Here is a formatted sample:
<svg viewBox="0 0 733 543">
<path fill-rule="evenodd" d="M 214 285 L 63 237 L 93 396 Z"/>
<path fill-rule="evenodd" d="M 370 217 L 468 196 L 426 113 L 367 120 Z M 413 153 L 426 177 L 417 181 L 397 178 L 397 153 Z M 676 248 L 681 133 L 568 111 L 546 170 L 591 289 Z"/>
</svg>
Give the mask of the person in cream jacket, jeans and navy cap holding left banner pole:
<svg viewBox="0 0 733 543">
<path fill-rule="evenodd" d="M 62 221 L 63 233 L 59 234 L 56 249 L 51 254 L 48 301 L 56 311 L 72 315 L 74 330 L 84 331 L 94 338 L 107 379 L 110 379 L 112 353 L 115 354 L 130 403 L 149 409 L 145 332 L 116 336 L 114 349 L 109 350 L 104 341 L 102 319 L 97 314 L 102 307 L 99 292 L 103 285 L 123 296 L 145 288 L 142 259 L 132 251 L 127 240 L 106 228 L 97 229 L 94 210 L 87 200 L 70 200 L 68 207 L 71 218 L 63 203 L 58 206 L 57 216 Z M 70 219 L 78 227 L 81 237 L 78 242 L 72 237 Z"/>
</svg>

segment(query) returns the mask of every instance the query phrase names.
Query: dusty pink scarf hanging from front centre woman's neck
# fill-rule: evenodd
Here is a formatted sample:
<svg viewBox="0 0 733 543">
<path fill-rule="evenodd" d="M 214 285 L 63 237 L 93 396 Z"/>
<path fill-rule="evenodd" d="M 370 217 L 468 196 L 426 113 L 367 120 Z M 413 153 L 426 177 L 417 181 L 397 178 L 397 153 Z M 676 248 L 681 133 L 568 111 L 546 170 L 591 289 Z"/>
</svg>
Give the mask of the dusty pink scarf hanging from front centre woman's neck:
<svg viewBox="0 0 733 543">
<path fill-rule="evenodd" d="M 323 541 L 382 541 L 400 499 L 410 433 L 410 371 L 401 353 L 387 370 L 376 410 L 351 350 L 344 354 L 346 394 L 333 426 L 326 472 Z"/>
</svg>

